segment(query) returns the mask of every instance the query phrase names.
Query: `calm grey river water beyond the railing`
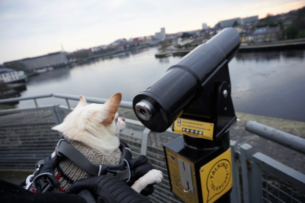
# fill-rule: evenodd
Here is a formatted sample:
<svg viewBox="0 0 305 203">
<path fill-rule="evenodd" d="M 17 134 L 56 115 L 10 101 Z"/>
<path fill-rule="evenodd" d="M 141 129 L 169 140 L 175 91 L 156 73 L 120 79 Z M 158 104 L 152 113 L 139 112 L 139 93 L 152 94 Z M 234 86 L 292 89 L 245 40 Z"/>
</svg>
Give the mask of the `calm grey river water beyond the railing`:
<svg viewBox="0 0 305 203">
<path fill-rule="evenodd" d="M 65 93 L 109 98 L 122 92 L 133 97 L 181 57 L 155 58 L 156 48 L 60 68 L 29 78 L 22 96 Z M 229 63 L 235 111 L 305 121 L 305 50 L 238 53 Z M 38 99 L 38 105 L 63 104 L 59 98 Z M 76 105 L 77 102 L 70 102 Z M 32 107 L 33 100 L 18 107 Z"/>
</svg>

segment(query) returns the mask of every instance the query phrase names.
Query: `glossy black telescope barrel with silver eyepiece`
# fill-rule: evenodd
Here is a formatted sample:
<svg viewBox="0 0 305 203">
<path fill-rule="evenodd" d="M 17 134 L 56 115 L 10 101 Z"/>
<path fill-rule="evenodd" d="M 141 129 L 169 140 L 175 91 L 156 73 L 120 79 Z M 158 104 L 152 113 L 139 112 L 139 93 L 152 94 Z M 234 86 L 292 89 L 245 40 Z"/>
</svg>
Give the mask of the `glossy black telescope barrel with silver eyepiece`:
<svg viewBox="0 0 305 203">
<path fill-rule="evenodd" d="M 226 28 L 171 66 L 159 79 L 138 93 L 133 108 L 147 128 L 164 132 L 196 95 L 201 84 L 239 48 L 239 33 Z"/>
</svg>

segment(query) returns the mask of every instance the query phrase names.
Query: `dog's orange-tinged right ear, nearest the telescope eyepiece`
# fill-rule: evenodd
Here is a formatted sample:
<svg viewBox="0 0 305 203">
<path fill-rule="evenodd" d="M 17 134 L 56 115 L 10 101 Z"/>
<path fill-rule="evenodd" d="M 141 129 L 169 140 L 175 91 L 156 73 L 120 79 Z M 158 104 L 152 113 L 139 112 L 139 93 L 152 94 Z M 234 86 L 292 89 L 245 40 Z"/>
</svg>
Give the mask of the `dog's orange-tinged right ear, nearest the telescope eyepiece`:
<svg viewBox="0 0 305 203">
<path fill-rule="evenodd" d="M 102 121 L 104 125 L 109 125 L 113 122 L 114 116 L 117 113 L 121 100 L 122 100 L 122 93 L 117 92 L 105 102 L 104 105 L 106 106 L 106 111 L 108 115 L 107 118 L 104 121 Z"/>
</svg>

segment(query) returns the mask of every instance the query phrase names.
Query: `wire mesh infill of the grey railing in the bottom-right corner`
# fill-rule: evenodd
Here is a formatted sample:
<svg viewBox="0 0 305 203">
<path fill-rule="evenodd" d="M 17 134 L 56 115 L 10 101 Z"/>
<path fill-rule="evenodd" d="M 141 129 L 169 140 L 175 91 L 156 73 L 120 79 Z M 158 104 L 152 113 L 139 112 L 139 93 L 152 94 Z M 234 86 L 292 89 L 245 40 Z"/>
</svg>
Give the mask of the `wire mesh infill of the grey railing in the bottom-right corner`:
<svg viewBox="0 0 305 203">
<path fill-rule="evenodd" d="M 264 170 L 262 171 L 262 181 L 264 202 L 305 202 L 305 194 L 302 191 Z"/>
</svg>

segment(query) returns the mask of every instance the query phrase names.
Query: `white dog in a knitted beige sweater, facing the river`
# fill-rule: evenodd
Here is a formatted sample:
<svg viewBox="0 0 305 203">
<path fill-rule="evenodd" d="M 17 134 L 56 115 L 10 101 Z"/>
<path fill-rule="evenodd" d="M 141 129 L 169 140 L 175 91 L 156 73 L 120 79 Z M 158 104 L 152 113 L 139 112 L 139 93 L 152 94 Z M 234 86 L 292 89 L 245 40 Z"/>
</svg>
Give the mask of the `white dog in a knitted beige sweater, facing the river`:
<svg viewBox="0 0 305 203">
<path fill-rule="evenodd" d="M 80 96 L 77 106 L 66 116 L 63 123 L 52 129 L 61 132 L 63 137 L 93 164 L 118 164 L 121 152 L 117 135 L 125 128 L 125 119 L 117 113 L 121 98 L 121 93 L 118 92 L 105 104 L 87 104 L 84 96 Z M 62 192 L 74 181 L 89 176 L 69 159 L 60 162 L 54 172 Z M 135 181 L 132 188 L 140 193 L 149 184 L 160 184 L 162 178 L 161 171 L 152 169 Z"/>
</svg>

